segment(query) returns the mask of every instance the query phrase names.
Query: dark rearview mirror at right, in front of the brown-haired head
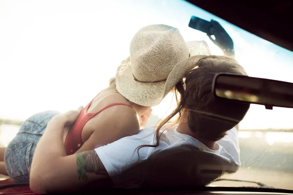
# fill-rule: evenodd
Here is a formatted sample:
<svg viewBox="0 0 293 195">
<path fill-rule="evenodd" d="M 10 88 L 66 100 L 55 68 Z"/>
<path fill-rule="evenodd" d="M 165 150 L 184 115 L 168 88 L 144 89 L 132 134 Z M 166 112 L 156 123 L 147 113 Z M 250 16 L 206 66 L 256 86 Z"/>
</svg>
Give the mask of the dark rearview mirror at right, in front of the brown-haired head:
<svg viewBox="0 0 293 195">
<path fill-rule="evenodd" d="M 293 83 L 236 74 L 217 74 L 213 80 L 213 93 L 218 98 L 293 108 Z"/>
</svg>

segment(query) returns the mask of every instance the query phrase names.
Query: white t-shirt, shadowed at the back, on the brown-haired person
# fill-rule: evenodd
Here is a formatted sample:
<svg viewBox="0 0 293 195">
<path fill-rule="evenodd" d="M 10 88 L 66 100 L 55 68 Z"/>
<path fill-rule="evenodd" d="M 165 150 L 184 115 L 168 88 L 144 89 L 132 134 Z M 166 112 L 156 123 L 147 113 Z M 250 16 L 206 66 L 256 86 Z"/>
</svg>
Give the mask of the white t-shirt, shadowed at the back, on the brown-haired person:
<svg viewBox="0 0 293 195">
<path fill-rule="evenodd" d="M 153 131 L 154 127 L 147 127 L 95 149 L 116 186 L 205 185 L 241 165 L 236 128 L 210 150 L 194 137 L 177 132 L 176 125 L 163 133 L 158 147 L 140 149 L 138 158 L 138 146 L 154 143 Z"/>
</svg>

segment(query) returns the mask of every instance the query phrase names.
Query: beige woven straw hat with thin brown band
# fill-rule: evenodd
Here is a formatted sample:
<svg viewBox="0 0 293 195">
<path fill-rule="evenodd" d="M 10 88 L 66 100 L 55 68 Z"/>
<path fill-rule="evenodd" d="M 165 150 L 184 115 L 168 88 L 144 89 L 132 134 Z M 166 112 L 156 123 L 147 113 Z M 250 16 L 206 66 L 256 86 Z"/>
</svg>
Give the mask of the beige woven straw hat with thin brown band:
<svg viewBox="0 0 293 195">
<path fill-rule="evenodd" d="M 155 106 L 204 55 L 210 55 L 205 41 L 185 42 L 171 26 L 146 26 L 135 34 L 129 58 L 117 69 L 117 91 L 136 104 Z"/>
</svg>

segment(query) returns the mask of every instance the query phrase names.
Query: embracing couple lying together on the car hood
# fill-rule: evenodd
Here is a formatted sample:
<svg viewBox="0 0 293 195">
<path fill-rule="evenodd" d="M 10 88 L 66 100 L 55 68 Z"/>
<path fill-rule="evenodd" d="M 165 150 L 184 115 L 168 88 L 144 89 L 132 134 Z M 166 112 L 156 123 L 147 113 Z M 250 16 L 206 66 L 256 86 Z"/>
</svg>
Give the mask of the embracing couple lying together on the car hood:
<svg viewBox="0 0 293 195">
<path fill-rule="evenodd" d="M 146 26 L 133 37 L 129 58 L 109 87 L 84 108 L 24 121 L 1 149 L 1 170 L 40 194 L 206 185 L 233 173 L 240 166 L 235 126 L 250 104 L 214 98 L 217 73 L 247 75 L 236 60 L 211 56 L 204 41 L 185 42 L 171 26 Z M 141 129 L 151 107 L 170 92 L 179 97 L 176 109 L 157 126 Z"/>
</svg>

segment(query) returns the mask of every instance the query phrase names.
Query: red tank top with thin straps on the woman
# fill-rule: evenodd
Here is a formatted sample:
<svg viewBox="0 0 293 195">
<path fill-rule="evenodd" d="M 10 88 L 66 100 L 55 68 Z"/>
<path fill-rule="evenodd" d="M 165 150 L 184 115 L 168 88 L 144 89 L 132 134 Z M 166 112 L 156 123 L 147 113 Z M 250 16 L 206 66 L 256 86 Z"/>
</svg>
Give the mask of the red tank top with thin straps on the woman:
<svg viewBox="0 0 293 195">
<path fill-rule="evenodd" d="M 110 104 L 110 105 L 102 108 L 101 110 L 99 110 L 96 113 L 86 113 L 87 108 L 89 107 L 91 102 L 92 101 L 90 101 L 84 107 L 84 109 L 81 111 L 79 117 L 77 118 L 76 122 L 74 123 L 74 125 L 68 131 L 68 134 L 67 134 L 67 136 L 65 138 L 65 142 L 64 142 L 65 150 L 66 150 L 67 155 L 73 155 L 84 144 L 83 139 L 82 139 L 82 131 L 84 129 L 84 125 L 92 117 L 96 116 L 97 114 L 99 114 L 100 112 L 102 112 L 103 110 L 105 110 L 105 109 L 107 109 L 107 108 L 109 108 L 111 106 L 125 105 L 125 106 L 128 106 L 128 107 L 132 108 L 130 105 L 125 104 L 125 103 L 113 103 L 113 104 Z"/>
</svg>

